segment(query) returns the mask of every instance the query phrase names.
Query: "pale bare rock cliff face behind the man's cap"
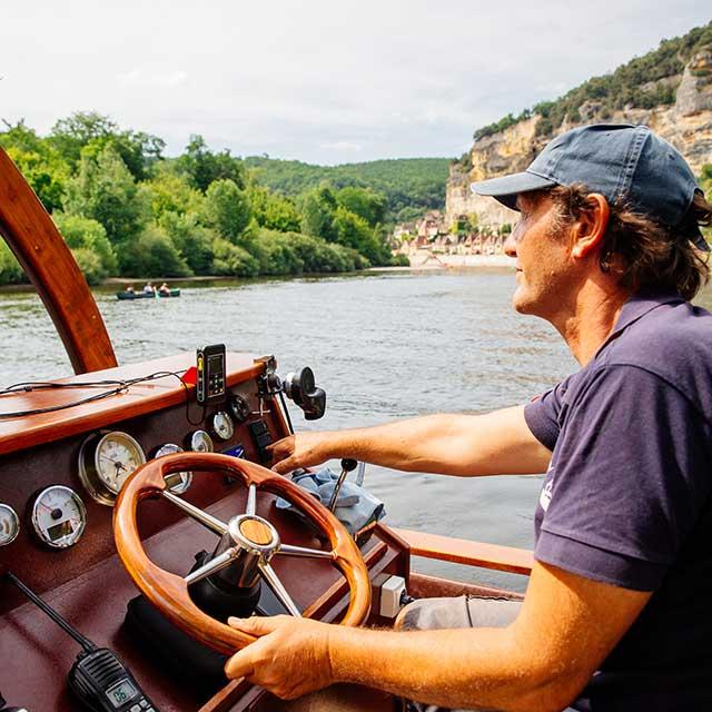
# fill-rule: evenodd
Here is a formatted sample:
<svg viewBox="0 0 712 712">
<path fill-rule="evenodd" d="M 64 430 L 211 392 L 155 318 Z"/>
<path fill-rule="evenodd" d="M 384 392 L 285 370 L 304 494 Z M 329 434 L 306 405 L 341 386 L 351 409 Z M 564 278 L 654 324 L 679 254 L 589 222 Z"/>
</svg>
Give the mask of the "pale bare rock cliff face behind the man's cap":
<svg viewBox="0 0 712 712">
<path fill-rule="evenodd" d="M 703 165 L 712 164 L 712 47 L 692 57 L 682 77 L 668 77 L 661 82 L 672 86 L 679 82 L 674 105 L 624 109 L 603 120 L 599 117 L 599 105 L 586 101 L 578 109 L 581 120 L 564 120 L 554 135 L 584 123 L 644 123 L 669 140 L 699 174 Z M 516 212 L 492 198 L 473 195 L 469 184 L 524 170 L 554 136 L 536 136 L 538 121 L 540 117 L 534 115 L 504 131 L 475 141 L 469 152 L 472 168 L 451 167 L 445 199 L 446 225 L 452 225 L 457 216 L 472 214 L 477 214 L 481 225 L 493 227 L 516 221 Z"/>
</svg>

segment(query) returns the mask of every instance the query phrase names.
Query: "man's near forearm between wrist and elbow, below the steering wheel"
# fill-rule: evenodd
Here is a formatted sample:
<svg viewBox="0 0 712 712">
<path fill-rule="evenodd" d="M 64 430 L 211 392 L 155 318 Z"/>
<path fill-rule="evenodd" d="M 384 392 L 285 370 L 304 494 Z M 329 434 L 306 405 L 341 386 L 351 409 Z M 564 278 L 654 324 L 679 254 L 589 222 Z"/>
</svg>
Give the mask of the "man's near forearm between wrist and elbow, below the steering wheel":
<svg viewBox="0 0 712 712">
<path fill-rule="evenodd" d="M 335 682 L 353 682 L 456 709 L 546 712 L 567 704 L 506 629 L 395 633 L 335 629 Z M 563 700 L 563 701 L 562 701 Z"/>
</svg>

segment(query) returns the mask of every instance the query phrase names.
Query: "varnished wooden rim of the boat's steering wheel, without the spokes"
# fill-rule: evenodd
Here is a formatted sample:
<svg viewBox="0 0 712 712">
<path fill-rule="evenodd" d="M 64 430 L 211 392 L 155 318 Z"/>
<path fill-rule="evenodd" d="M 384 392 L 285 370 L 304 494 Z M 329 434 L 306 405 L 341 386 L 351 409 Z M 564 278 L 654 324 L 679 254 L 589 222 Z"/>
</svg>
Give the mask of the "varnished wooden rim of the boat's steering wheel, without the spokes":
<svg viewBox="0 0 712 712">
<path fill-rule="evenodd" d="M 255 641 L 254 636 L 204 613 L 191 601 L 188 583 L 155 564 L 144 550 L 137 524 L 139 503 L 156 495 L 166 496 L 165 477 L 184 471 L 228 474 L 246 486 L 261 486 L 297 506 L 326 534 L 332 546 L 332 563 L 348 582 L 349 605 L 340 625 L 357 626 L 366 620 L 370 610 L 370 582 L 363 556 L 344 525 L 312 494 L 246 459 L 217 453 L 177 453 L 149 461 L 132 473 L 121 487 L 113 511 L 113 537 L 121 563 L 141 593 L 172 623 L 226 654 Z"/>
</svg>

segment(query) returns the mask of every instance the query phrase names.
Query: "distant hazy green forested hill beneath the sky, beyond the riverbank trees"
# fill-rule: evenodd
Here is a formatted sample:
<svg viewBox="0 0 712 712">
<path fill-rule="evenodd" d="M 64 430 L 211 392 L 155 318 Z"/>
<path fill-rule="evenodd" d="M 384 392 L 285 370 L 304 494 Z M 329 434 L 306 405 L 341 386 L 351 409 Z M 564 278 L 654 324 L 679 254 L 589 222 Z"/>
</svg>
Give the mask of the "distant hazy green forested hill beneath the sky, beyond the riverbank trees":
<svg viewBox="0 0 712 712">
<path fill-rule="evenodd" d="M 390 221 L 409 220 L 426 210 L 445 207 L 445 181 L 449 159 L 400 158 L 343 166 L 313 166 L 298 160 L 250 156 L 245 159 L 258 180 L 286 196 L 327 182 L 335 188 L 370 188 L 387 200 Z"/>
</svg>

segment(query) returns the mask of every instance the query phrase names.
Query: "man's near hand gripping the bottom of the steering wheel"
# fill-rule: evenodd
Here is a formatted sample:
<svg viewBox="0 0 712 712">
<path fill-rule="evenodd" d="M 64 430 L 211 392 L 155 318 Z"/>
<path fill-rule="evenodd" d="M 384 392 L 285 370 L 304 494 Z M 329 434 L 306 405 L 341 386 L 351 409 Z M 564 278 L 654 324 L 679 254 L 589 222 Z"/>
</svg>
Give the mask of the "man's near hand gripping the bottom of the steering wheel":
<svg viewBox="0 0 712 712">
<path fill-rule="evenodd" d="M 225 664 L 228 678 L 247 678 L 283 700 L 326 688 L 334 682 L 329 659 L 332 625 L 290 615 L 228 619 L 257 641 Z"/>
</svg>

